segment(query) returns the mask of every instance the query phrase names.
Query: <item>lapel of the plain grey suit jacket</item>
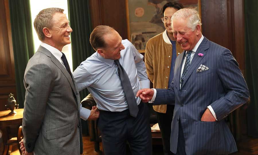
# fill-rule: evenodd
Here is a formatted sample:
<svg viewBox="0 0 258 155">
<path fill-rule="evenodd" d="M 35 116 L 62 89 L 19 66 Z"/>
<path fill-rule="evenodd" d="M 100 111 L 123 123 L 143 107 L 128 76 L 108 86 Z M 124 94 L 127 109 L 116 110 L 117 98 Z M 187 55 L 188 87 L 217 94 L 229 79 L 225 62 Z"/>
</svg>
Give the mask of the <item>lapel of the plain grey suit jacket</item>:
<svg viewBox="0 0 258 155">
<path fill-rule="evenodd" d="M 67 78 L 67 80 L 69 81 L 70 86 L 73 89 L 73 92 L 76 96 L 76 92 L 75 92 L 75 87 L 74 87 L 74 83 L 73 80 L 71 78 L 71 75 L 68 73 L 68 71 L 66 70 L 66 68 L 60 63 L 60 61 L 58 61 L 56 59 L 56 57 L 54 55 L 52 55 L 52 53 L 50 51 L 48 51 L 46 48 L 40 46 L 38 48 L 39 52 L 44 53 L 45 55 L 47 55 L 48 57 L 51 58 L 51 61 L 62 71 L 62 73 L 64 74 L 64 76 Z"/>
</svg>

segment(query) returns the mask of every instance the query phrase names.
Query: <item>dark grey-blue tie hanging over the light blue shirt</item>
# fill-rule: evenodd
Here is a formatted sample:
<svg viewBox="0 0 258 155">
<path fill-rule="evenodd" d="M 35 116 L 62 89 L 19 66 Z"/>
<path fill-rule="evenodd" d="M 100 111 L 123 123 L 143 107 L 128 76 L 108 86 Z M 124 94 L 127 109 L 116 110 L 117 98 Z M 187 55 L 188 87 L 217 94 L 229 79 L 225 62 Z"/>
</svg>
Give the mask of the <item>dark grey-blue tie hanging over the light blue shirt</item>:
<svg viewBox="0 0 258 155">
<path fill-rule="evenodd" d="M 138 109 L 137 102 L 135 99 L 134 91 L 132 90 L 132 85 L 130 83 L 130 80 L 128 78 L 126 71 L 124 70 L 122 65 L 120 65 L 119 60 L 115 60 L 115 63 L 118 67 L 118 75 L 119 75 L 119 78 L 121 80 L 121 83 L 122 83 L 122 86 L 124 89 L 124 94 L 126 96 L 130 115 L 132 117 L 136 117 L 139 109 Z"/>
</svg>

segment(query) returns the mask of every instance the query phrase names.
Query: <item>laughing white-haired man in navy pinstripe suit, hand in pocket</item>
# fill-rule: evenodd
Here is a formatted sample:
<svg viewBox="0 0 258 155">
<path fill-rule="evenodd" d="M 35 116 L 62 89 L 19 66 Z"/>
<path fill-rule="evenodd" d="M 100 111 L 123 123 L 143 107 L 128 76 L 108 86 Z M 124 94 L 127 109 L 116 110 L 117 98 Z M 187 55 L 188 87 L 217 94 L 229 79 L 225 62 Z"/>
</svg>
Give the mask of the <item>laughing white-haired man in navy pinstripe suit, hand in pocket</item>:
<svg viewBox="0 0 258 155">
<path fill-rule="evenodd" d="M 196 10 L 172 16 L 173 35 L 181 44 L 171 87 L 142 89 L 136 96 L 153 105 L 175 101 L 170 150 L 180 155 L 230 154 L 234 138 L 224 118 L 249 98 L 245 79 L 232 53 L 205 38 Z"/>
</svg>

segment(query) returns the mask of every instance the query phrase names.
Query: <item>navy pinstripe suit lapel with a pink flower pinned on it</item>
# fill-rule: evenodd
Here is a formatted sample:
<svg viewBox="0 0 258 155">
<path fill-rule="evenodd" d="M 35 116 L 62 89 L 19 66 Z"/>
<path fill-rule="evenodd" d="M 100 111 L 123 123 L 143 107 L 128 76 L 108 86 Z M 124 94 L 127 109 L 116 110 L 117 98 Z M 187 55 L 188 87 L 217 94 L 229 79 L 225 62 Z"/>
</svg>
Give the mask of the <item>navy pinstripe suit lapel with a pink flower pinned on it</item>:
<svg viewBox="0 0 258 155">
<path fill-rule="evenodd" d="M 202 58 L 205 57 L 206 55 L 206 50 L 209 48 L 209 40 L 207 38 L 203 38 L 201 44 L 199 45 L 198 49 L 196 50 L 196 53 L 193 56 L 193 59 L 190 63 L 190 66 L 188 68 L 188 71 L 185 75 L 185 80 L 183 83 L 183 86 L 185 85 L 185 83 L 187 82 L 188 78 L 190 77 L 190 75 L 192 74 L 193 70 L 195 70 L 196 66 L 199 64 L 199 62 L 202 60 Z M 203 56 L 199 56 L 198 54 L 202 53 Z M 182 65 L 181 65 L 182 67 Z M 180 72 L 181 73 L 181 72 Z M 182 86 L 182 87 L 183 87 Z"/>
</svg>

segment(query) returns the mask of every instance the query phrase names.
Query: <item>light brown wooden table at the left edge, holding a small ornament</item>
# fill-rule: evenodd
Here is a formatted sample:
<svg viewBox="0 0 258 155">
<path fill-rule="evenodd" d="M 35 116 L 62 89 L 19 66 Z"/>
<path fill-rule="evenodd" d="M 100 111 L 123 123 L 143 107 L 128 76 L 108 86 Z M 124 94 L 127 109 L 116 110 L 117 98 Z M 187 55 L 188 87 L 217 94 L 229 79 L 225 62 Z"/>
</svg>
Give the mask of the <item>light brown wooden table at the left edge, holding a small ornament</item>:
<svg viewBox="0 0 258 155">
<path fill-rule="evenodd" d="M 19 141 L 22 137 L 20 126 L 22 125 L 23 109 L 15 109 L 14 111 L 17 112 L 14 115 L 8 115 L 11 112 L 10 110 L 0 111 L 0 132 L 3 139 L 3 144 L 0 144 L 0 155 L 8 154 L 9 148 L 11 148 L 11 144 L 13 143 L 16 143 L 18 148 L 20 148 Z M 17 140 L 8 142 L 12 137 L 17 137 Z"/>
</svg>

